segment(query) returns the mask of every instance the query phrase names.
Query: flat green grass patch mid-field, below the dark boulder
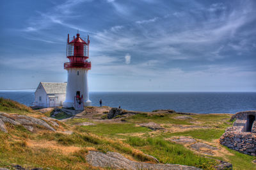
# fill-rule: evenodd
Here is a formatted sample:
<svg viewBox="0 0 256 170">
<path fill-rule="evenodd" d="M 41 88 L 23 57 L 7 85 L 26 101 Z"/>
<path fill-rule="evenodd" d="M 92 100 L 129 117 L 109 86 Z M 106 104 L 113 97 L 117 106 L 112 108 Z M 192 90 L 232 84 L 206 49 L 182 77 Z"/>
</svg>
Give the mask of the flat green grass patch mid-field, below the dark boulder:
<svg viewBox="0 0 256 170">
<path fill-rule="evenodd" d="M 138 132 L 150 132 L 152 130 L 145 127 L 135 127 L 133 123 L 99 123 L 93 126 L 77 127 L 80 132 L 92 132 L 98 135 L 116 135 Z"/>
</svg>

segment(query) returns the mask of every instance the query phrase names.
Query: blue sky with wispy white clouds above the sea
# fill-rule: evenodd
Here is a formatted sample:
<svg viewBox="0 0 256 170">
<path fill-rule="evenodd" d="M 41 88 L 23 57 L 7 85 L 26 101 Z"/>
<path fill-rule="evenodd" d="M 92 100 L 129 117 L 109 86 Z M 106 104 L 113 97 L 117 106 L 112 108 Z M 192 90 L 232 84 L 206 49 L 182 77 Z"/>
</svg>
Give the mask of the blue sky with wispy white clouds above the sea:
<svg viewBox="0 0 256 170">
<path fill-rule="evenodd" d="M 90 91 L 256 91 L 256 1 L 0 3 L 0 89 L 67 81 L 78 29 Z"/>
</svg>

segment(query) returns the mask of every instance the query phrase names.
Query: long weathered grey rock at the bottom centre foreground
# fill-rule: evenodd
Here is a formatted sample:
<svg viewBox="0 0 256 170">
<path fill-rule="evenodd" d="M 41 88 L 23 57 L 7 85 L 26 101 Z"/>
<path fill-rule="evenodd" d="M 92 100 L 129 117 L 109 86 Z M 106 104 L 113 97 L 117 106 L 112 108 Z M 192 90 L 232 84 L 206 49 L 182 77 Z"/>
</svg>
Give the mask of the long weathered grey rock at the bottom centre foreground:
<svg viewBox="0 0 256 170">
<path fill-rule="evenodd" d="M 150 164 L 135 162 L 125 158 L 123 155 L 108 151 L 89 151 L 86 162 L 95 167 L 108 167 L 111 169 L 199 169 L 192 166 L 181 166 L 177 164 Z"/>
</svg>

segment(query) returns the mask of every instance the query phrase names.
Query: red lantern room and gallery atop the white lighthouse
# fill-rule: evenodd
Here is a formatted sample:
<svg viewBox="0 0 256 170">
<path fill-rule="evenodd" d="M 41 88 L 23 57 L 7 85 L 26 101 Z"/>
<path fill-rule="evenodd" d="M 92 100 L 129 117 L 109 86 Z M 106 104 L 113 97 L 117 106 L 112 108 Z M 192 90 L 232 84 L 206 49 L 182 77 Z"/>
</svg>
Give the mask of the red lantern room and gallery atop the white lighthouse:
<svg viewBox="0 0 256 170">
<path fill-rule="evenodd" d="M 91 69 L 91 62 L 87 61 L 89 58 L 89 36 L 87 40 L 84 40 L 77 33 L 76 38 L 69 42 L 69 34 L 67 40 L 67 58 L 69 62 L 64 63 L 64 68 L 86 68 Z"/>
</svg>

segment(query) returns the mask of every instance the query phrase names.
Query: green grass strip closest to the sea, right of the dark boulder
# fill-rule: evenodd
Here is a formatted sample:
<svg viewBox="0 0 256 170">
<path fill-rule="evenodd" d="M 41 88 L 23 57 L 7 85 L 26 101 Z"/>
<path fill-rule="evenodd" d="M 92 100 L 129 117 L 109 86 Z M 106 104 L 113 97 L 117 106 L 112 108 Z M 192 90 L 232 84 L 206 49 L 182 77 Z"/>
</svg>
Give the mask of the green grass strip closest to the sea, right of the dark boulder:
<svg viewBox="0 0 256 170">
<path fill-rule="evenodd" d="M 180 116 L 179 114 L 147 114 L 140 113 L 135 114 L 129 118 L 125 118 L 126 121 L 132 123 L 147 123 L 147 122 L 155 122 L 155 123 L 170 123 L 177 125 L 193 125 L 193 123 L 189 123 L 188 120 L 176 120 L 173 119 L 175 116 Z"/>
</svg>

